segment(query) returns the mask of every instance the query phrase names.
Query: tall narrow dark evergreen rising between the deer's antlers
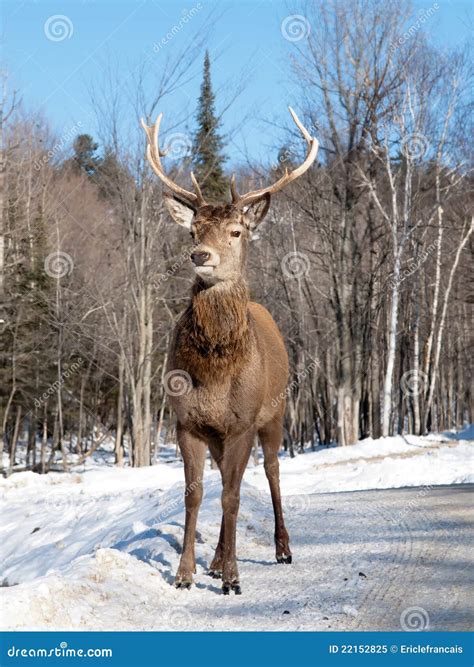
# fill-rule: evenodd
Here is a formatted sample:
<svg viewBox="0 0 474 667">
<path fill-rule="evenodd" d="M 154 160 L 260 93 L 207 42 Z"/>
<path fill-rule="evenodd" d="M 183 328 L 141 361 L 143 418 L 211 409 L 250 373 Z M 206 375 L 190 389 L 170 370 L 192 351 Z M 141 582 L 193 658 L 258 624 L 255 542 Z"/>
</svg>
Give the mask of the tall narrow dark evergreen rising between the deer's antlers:
<svg viewBox="0 0 474 667">
<path fill-rule="evenodd" d="M 209 53 L 204 57 L 204 76 L 197 112 L 198 129 L 194 135 L 193 169 L 209 202 L 222 202 L 229 185 L 224 177 L 224 142 L 219 134 L 219 119 L 214 110 Z"/>
</svg>

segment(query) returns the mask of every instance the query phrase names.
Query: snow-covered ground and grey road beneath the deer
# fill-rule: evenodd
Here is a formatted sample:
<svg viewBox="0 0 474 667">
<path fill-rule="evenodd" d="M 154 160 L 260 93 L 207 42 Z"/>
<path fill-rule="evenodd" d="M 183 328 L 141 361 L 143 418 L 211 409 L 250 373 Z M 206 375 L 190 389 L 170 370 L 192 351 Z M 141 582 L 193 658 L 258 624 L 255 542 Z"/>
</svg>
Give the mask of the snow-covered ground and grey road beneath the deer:
<svg viewBox="0 0 474 667">
<path fill-rule="evenodd" d="M 237 538 L 241 596 L 221 595 L 219 582 L 206 574 L 220 522 L 216 473 L 206 475 L 191 591 L 172 586 L 183 534 L 178 463 L 13 475 L 1 485 L 1 625 L 400 630 L 420 622 L 467 630 L 473 487 L 462 482 L 472 478 L 472 443 L 388 440 L 385 450 L 380 441 L 363 442 L 282 461 L 289 566 L 274 560 L 262 466 L 247 471 Z M 418 468 L 424 486 L 321 492 L 329 483 L 360 488 L 364 469 L 369 486 L 380 476 L 380 486 L 400 486 L 405 466 L 407 483 Z M 459 484 L 433 486 L 443 481 Z"/>
</svg>

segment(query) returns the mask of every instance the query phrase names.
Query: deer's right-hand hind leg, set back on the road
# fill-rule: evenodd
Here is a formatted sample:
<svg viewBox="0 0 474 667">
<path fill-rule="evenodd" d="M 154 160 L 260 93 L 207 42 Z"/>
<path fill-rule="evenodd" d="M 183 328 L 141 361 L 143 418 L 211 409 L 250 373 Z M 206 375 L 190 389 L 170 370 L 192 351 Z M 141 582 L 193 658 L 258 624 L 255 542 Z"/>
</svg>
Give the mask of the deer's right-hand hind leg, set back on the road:
<svg viewBox="0 0 474 667">
<path fill-rule="evenodd" d="M 273 512 L 275 514 L 275 548 L 278 563 L 291 563 L 290 538 L 285 527 L 280 493 L 280 464 L 278 452 L 283 438 L 283 424 L 280 416 L 265 424 L 258 431 L 263 449 L 264 468 L 270 486 Z"/>
</svg>

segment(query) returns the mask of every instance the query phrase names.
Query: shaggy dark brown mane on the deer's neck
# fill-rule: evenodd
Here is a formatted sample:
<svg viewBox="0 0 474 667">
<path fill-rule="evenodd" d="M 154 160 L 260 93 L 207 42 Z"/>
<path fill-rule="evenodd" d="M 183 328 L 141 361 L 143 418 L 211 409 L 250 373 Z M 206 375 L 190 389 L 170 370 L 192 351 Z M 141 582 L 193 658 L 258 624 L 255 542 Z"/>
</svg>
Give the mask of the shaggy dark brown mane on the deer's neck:
<svg viewBox="0 0 474 667">
<path fill-rule="evenodd" d="M 195 282 L 179 337 L 179 356 L 198 378 L 232 370 L 244 360 L 251 340 L 248 300 L 243 280 L 212 287 L 199 279 Z"/>
</svg>

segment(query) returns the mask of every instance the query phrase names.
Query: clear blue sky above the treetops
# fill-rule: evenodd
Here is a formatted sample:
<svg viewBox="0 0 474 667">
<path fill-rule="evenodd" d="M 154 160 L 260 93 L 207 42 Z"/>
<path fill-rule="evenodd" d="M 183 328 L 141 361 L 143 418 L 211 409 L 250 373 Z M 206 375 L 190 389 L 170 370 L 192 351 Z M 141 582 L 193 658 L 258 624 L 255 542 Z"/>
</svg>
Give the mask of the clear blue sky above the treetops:
<svg viewBox="0 0 474 667">
<path fill-rule="evenodd" d="M 432 5 L 414 4 L 416 11 Z M 432 41 L 441 46 L 465 42 L 470 32 L 471 3 L 439 0 L 438 5 L 428 27 Z M 194 17 L 184 24 L 182 17 L 193 8 L 197 8 Z M 287 105 L 297 107 L 288 68 L 294 45 L 283 37 L 281 26 L 288 15 L 301 13 L 301 5 L 286 0 L 4 0 L 7 67 L 27 109 L 42 110 L 58 135 L 78 122 L 81 131 L 95 134 L 88 88 L 91 81 L 100 81 L 108 59 L 119 61 L 124 76 L 141 58 L 148 59 L 150 69 L 159 70 L 171 49 L 186 48 L 212 11 L 218 19 L 210 31 L 208 47 L 214 60 L 214 88 L 220 93 L 218 110 L 229 94 L 224 92 L 229 85 L 247 76 L 245 92 L 223 117 L 224 132 L 234 131 L 240 119 L 247 118 L 228 147 L 230 163 L 243 159 L 245 152 L 252 159 L 262 159 L 271 150 L 273 159 L 271 147 L 282 137 L 279 127 L 287 123 Z M 45 31 L 48 19 L 58 15 L 66 17 L 62 22 L 69 36 L 59 39 L 61 28 L 55 33 L 53 25 L 50 34 L 58 38 L 55 41 L 48 39 Z M 154 44 L 177 25 L 182 26 L 177 34 L 154 50 Z M 180 112 L 194 108 L 202 56 L 191 68 L 190 80 L 164 100 L 165 130 Z"/>
</svg>

